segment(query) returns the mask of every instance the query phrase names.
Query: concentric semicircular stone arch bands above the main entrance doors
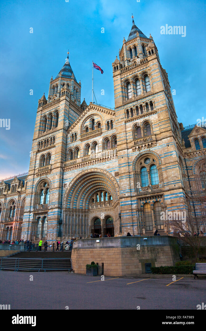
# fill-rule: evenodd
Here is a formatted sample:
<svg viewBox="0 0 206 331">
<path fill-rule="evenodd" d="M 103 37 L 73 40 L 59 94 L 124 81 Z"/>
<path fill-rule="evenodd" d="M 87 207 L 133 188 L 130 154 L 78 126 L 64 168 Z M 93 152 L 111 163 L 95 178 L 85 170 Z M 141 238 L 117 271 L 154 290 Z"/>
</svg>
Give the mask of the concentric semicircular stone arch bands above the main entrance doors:
<svg viewBox="0 0 206 331">
<path fill-rule="evenodd" d="M 101 190 L 108 191 L 114 203 L 119 199 L 119 185 L 110 172 L 98 168 L 85 170 L 71 181 L 64 194 L 63 208 L 88 209 L 92 195 Z"/>
</svg>

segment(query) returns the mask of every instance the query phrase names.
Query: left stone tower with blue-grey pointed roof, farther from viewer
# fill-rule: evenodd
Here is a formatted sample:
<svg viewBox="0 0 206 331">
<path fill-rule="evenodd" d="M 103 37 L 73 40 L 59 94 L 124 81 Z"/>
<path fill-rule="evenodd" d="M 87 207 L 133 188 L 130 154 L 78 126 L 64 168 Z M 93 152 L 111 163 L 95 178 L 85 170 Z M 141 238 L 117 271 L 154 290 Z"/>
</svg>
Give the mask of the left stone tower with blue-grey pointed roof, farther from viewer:
<svg viewBox="0 0 206 331">
<path fill-rule="evenodd" d="M 49 84 L 48 99 L 39 99 L 22 237 L 55 240 L 61 236 L 63 163 L 66 160 L 66 131 L 79 117 L 81 82 L 77 82 L 67 56 L 66 62 Z"/>
</svg>

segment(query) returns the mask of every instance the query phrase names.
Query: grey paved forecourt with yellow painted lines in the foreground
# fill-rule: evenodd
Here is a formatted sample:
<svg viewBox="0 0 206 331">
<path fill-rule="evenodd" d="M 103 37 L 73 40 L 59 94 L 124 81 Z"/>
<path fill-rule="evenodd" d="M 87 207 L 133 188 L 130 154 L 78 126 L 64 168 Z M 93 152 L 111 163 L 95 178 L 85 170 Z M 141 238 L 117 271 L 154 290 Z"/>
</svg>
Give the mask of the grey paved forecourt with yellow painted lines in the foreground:
<svg viewBox="0 0 206 331">
<path fill-rule="evenodd" d="M 176 280 L 171 275 L 163 279 L 105 277 L 101 281 L 101 276 L 66 271 L 2 270 L 1 304 L 11 309 L 197 309 L 205 302 L 206 278 Z"/>
</svg>

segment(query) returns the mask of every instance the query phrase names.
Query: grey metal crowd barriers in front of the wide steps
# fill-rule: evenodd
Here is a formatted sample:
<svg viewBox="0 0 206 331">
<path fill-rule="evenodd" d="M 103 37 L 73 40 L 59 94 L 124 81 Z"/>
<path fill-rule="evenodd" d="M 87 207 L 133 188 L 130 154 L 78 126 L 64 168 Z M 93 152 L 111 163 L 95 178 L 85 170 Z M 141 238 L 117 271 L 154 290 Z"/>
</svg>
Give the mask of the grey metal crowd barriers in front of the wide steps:
<svg viewBox="0 0 206 331">
<path fill-rule="evenodd" d="M 71 259 L 58 258 L 1 258 L 0 270 L 71 270 Z"/>
</svg>

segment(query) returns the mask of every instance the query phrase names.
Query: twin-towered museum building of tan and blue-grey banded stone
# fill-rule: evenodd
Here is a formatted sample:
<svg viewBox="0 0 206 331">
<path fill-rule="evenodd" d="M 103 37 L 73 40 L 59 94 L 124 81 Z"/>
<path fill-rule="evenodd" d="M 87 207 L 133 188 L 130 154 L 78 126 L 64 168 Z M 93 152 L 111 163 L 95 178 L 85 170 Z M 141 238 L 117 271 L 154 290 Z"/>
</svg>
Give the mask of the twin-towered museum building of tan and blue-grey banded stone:
<svg viewBox="0 0 206 331">
<path fill-rule="evenodd" d="M 68 60 L 51 78 L 28 174 L 0 183 L 1 240 L 172 234 L 160 213 L 187 210 L 206 129 L 178 123 L 157 47 L 134 21 L 112 70 L 115 110 L 81 103 Z"/>
</svg>

